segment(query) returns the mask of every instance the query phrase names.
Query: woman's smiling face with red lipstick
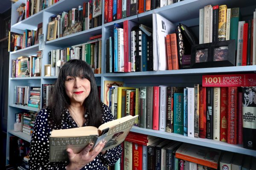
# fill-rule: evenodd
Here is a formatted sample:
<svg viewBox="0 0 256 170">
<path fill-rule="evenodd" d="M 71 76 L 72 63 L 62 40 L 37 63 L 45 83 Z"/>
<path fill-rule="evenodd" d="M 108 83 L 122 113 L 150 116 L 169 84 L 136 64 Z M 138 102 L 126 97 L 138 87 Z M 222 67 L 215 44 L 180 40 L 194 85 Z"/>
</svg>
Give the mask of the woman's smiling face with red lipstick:
<svg viewBox="0 0 256 170">
<path fill-rule="evenodd" d="M 65 90 L 71 104 L 83 104 L 90 94 L 90 89 L 90 81 L 87 78 L 67 76 Z"/>
</svg>

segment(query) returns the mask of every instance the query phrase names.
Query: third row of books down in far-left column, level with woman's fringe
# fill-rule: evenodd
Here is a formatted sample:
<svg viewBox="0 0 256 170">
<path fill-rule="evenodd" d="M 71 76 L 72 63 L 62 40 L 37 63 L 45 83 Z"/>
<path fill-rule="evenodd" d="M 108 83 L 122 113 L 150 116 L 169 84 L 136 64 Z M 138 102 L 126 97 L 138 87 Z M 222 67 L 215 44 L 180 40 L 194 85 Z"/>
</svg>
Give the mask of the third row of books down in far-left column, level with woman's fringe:
<svg viewBox="0 0 256 170">
<path fill-rule="evenodd" d="M 41 51 L 38 51 L 37 56 L 20 56 L 17 59 L 12 59 L 11 77 L 34 77 L 40 75 Z"/>
</svg>

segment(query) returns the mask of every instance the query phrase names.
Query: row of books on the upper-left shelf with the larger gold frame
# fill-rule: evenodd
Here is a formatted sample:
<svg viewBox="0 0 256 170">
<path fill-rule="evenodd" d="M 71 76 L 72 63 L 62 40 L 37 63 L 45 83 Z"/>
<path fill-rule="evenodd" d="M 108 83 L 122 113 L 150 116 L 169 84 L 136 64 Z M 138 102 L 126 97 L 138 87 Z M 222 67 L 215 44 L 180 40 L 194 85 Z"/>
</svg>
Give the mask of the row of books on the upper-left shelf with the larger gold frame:
<svg viewBox="0 0 256 170">
<path fill-rule="evenodd" d="M 55 23 L 55 38 L 64 37 L 102 25 L 102 1 L 90 0 L 83 6 L 72 8 L 49 17 L 49 25 Z M 51 28 L 50 26 L 48 28 Z M 48 32 L 51 29 L 48 29 Z M 52 32 L 50 32 L 52 34 Z"/>
</svg>

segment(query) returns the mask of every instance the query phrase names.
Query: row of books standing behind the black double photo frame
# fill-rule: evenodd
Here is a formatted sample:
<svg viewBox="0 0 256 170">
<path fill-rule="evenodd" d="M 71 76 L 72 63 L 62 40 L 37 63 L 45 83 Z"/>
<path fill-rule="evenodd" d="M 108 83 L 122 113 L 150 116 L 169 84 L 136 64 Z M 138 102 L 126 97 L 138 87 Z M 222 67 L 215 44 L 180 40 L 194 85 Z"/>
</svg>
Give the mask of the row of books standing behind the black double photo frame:
<svg viewBox="0 0 256 170">
<path fill-rule="evenodd" d="M 236 66 L 256 65 L 256 11 L 246 23 L 241 21 L 239 7 L 207 5 L 200 9 L 199 20 L 199 44 L 234 39 Z"/>
</svg>

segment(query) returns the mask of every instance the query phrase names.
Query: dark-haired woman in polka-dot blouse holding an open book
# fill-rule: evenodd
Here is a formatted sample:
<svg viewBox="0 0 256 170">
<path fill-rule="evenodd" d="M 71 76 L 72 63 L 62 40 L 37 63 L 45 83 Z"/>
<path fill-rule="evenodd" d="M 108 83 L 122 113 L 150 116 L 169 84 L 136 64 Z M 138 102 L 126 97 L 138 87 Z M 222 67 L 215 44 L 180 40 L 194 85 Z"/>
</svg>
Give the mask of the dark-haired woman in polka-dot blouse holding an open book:
<svg viewBox="0 0 256 170">
<path fill-rule="evenodd" d="M 49 163 L 49 136 L 53 129 L 81 126 L 99 127 L 113 120 L 110 109 L 100 102 L 90 66 L 78 59 L 66 62 L 55 82 L 49 107 L 39 111 L 30 143 L 30 170 L 107 170 L 119 159 L 118 145 L 101 152 L 102 141 L 93 150 L 88 144 L 80 153 L 67 149 L 69 161 Z"/>
</svg>

